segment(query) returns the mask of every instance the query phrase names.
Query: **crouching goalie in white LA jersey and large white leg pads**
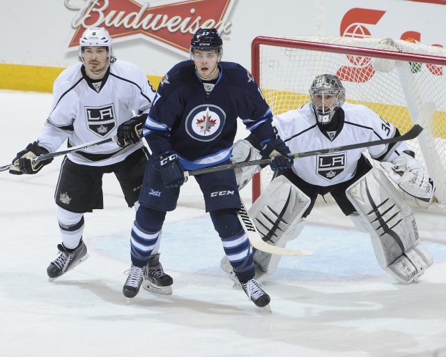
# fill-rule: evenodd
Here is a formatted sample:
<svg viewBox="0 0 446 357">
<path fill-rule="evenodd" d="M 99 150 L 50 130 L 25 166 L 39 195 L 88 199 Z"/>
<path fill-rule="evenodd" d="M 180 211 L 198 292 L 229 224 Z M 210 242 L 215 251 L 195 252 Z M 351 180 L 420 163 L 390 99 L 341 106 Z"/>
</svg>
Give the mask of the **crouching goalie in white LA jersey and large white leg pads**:
<svg viewBox="0 0 446 357">
<path fill-rule="evenodd" d="M 291 153 L 372 142 L 400 136 L 391 123 L 363 105 L 344 102 L 345 89 L 334 75 L 319 75 L 310 89 L 311 102 L 273 118 L 273 126 Z M 254 146 L 254 147 L 252 147 Z M 233 160 L 255 160 L 261 149 L 255 137 L 236 143 Z M 320 154 L 294 160 L 253 204 L 249 213 L 256 227 L 273 245 L 284 247 L 303 229 L 318 195 L 328 192 L 355 225 L 371 235 L 382 268 L 397 280 L 417 280 L 432 264 L 419 243 L 413 213 L 385 174 L 372 168 L 364 148 Z M 401 190 L 431 202 L 433 181 L 404 142 L 367 147 Z M 255 168 L 238 173 L 239 186 L 251 179 Z M 256 251 L 256 278 L 277 268 L 280 256 Z M 222 268 L 231 269 L 222 259 Z"/>
</svg>

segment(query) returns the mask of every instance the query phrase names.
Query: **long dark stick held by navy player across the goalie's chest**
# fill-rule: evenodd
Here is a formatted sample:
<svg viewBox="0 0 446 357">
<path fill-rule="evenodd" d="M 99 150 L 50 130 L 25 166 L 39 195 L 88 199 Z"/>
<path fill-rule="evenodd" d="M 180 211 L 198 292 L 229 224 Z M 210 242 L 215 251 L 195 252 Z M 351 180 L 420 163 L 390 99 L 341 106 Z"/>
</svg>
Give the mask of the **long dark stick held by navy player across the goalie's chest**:
<svg viewBox="0 0 446 357">
<path fill-rule="evenodd" d="M 353 150 L 353 149 L 360 149 L 360 148 L 367 148 L 368 146 L 375 146 L 375 145 L 383 145 L 383 144 L 392 144 L 394 142 L 403 142 L 410 139 L 415 139 L 418 135 L 420 135 L 420 132 L 423 131 L 422 126 L 419 126 L 418 124 L 415 124 L 406 134 L 401 135 L 399 137 L 391 137 L 390 139 L 382 139 L 382 140 L 374 140 L 373 142 L 361 142 L 358 144 L 351 144 L 351 145 L 344 145 L 344 146 L 336 146 L 334 148 L 328 148 L 328 149 L 321 149 L 321 150 L 314 150 L 314 151 L 305 151 L 305 153 L 293 153 L 293 156 L 295 159 L 298 158 L 307 158 L 308 156 L 314 156 L 314 155 L 321 155 L 324 153 L 336 153 L 338 151 L 346 151 L 346 150 Z M 260 160 L 252 160 L 252 161 L 245 161 L 245 162 L 235 162 L 233 164 L 227 164 L 227 165 L 217 165 L 217 166 L 210 166 L 210 167 L 203 167 L 202 169 L 196 169 L 192 171 L 185 171 L 184 176 L 197 176 L 201 174 L 208 174 L 209 172 L 217 172 L 217 171 L 224 171 L 224 170 L 230 170 L 230 169 L 236 169 L 238 167 L 248 167 L 248 166 L 255 166 L 255 165 L 267 165 L 271 162 L 271 159 L 260 159 Z"/>
</svg>

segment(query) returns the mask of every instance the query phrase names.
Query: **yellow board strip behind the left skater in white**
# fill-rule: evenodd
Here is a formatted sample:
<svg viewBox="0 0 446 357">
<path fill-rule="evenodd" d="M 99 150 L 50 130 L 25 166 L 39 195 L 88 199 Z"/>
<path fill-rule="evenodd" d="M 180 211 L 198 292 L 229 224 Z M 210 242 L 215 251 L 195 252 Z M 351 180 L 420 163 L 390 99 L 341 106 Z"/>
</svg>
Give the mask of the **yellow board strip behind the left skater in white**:
<svg viewBox="0 0 446 357">
<path fill-rule="evenodd" d="M 52 93 L 53 83 L 65 68 L 0 63 L 0 89 Z M 160 76 L 148 75 L 158 88 Z"/>
</svg>

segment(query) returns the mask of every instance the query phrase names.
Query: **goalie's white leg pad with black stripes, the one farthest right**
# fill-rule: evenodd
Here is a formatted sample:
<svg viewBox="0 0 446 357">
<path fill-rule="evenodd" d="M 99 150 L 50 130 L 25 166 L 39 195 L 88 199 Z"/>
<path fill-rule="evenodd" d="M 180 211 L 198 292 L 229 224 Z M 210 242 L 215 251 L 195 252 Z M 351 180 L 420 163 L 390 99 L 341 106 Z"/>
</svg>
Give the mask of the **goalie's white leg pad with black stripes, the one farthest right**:
<svg viewBox="0 0 446 357">
<path fill-rule="evenodd" d="M 410 207 L 383 172 L 371 169 L 347 188 L 346 196 L 364 220 L 381 268 L 397 280 L 409 283 L 432 264 L 429 252 L 419 245 Z"/>
</svg>

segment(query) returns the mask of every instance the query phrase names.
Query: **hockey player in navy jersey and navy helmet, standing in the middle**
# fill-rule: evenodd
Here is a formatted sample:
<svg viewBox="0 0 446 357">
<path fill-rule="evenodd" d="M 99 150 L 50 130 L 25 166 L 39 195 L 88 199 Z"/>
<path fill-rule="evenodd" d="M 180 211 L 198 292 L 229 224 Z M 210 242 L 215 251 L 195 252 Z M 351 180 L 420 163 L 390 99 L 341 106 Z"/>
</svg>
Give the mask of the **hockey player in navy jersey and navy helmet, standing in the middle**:
<svg viewBox="0 0 446 357">
<path fill-rule="evenodd" d="M 261 142 L 263 155 L 274 157 L 273 169 L 291 167 L 293 158 L 272 130 L 270 107 L 252 75 L 238 63 L 222 62 L 222 39 L 215 29 L 194 34 L 190 55 L 171 68 L 160 83 L 144 137 L 153 153 L 139 195 L 139 210 L 131 233 L 132 267 L 123 294 L 134 297 L 143 280 L 170 294 L 171 279 L 153 276 L 157 245 L 167 211 L 176 202 L 185 177 L 184 170 L 229 162 L 237 130 L 237 118 Z M 136 130 L 126 139 L 135 141 Z M 236 215 L 240 208 L 233 171 L 202 174 L 196 179 L 203 192 L 206 211 L 222 239 L 224 252 L 248 298 L 257 306 L 268 305 L 270 297 L 254 280 L 252 248 Z M 145 287 L 145 285 L 143 285 Z"/>
</svg>

